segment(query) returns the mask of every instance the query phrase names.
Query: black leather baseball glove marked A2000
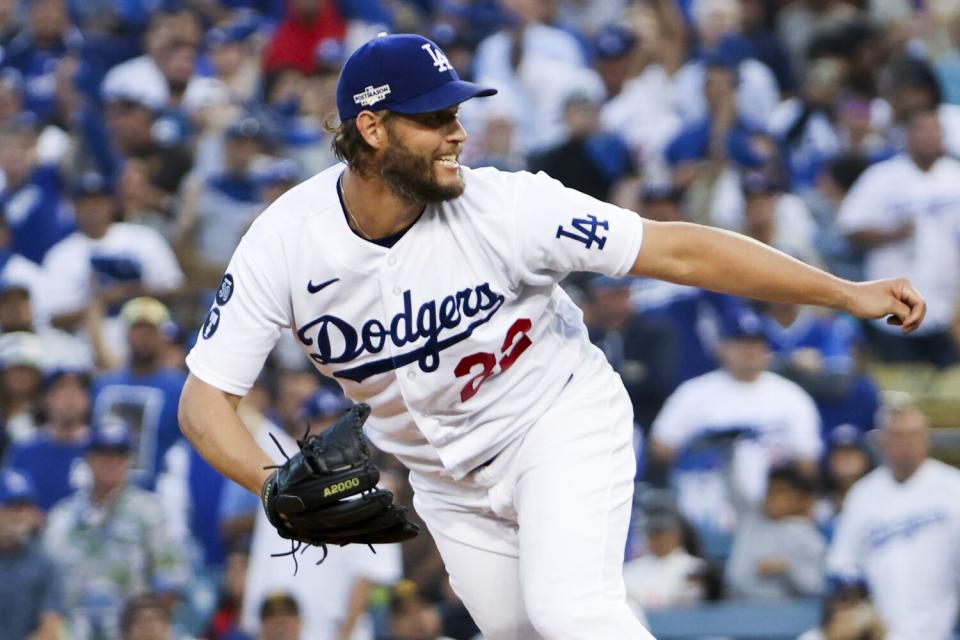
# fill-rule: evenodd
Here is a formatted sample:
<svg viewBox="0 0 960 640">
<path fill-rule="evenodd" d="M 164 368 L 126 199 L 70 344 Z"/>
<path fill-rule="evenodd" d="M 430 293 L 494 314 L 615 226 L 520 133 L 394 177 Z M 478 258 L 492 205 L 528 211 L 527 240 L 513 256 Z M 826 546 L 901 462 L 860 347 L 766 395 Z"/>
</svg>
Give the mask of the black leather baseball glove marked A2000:
<svg viewBox="0 0 960 640">
<path fill-rule="evenodd" d="M 387 544 L 419 533 L 393 494 L 377 488 L 380 472 L 363 436 L 369 415 L 368 405 L 353 405 L 322 434 L 298 440 L 300 451 L 264 482 L 263 508 L 280 535 L 294 541 L 289 554 L 307 544 L 326 558 L 328 544 Z"/>
</svg>

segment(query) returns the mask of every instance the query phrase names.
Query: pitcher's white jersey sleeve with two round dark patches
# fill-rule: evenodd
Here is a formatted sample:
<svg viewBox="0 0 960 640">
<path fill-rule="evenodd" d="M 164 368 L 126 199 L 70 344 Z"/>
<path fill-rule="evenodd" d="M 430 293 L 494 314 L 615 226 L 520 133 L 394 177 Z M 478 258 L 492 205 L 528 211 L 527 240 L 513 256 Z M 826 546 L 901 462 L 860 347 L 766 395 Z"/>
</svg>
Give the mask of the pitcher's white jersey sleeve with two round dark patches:
<svg viewBox="0 0 960 640">
<path fill-rule="evenodd" d="M 290 282 L 280 250 L 272 234 L 251 230 L 230 259 L 224 275 L 229 295 L 218 293 L 187 355 L 190 372 L 207 384 L 245 395 L 280 332 L 290 327 Z"/>
</svg>

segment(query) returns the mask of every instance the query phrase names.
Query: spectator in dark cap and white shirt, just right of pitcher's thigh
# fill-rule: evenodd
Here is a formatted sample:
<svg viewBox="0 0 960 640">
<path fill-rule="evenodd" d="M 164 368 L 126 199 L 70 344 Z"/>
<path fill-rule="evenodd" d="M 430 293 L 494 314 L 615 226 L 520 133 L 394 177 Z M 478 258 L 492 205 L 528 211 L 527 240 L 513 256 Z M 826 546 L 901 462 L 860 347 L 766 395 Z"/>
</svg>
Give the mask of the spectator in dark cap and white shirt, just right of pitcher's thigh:
<svg viewBox="0 0 960 640">
<path fill-rule="evenodd" d="M 644 519 L 647 552 L 623 567 L 627 599 L 639 611 L 688 607 L 704 599 L 706 563 L 683 548 L 679 513 Z"/>
</svg>

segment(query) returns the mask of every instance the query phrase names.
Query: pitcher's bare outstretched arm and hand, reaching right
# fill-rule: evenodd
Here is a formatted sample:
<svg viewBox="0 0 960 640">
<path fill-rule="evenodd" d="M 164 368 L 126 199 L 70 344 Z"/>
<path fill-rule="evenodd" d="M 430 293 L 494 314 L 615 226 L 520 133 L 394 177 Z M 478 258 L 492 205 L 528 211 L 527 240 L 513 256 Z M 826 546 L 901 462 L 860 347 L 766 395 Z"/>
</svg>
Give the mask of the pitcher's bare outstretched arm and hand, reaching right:
<svg viewBox="0 0 960 640">
<path fill-rule="evenodd" d="M 882 318 L 910 333 L 927 304 L 906 278 L 850 282 L 746 236 L 686 222 L 643 221 L 643 246 L 630 269 L 731 295 L 815 304 L 858 318 Z"/>
</svg>

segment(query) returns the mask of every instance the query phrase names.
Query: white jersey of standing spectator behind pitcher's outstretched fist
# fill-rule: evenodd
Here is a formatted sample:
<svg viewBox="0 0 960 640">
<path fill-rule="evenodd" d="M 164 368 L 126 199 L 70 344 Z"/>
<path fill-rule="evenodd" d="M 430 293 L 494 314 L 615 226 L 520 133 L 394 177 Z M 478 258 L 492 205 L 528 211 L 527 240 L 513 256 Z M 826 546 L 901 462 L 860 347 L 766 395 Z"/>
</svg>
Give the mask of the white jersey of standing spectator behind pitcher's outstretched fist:
<svg viewBox="0 0 960 640">
<path fill-rule="evenodd" d="M 926 172 L 905 154 L 877 163 L 854 183 L 838 216 L 847 234 L 892 231 L 912 222 L 912 236 L 867 253 L 864 275 L 870 280 L 910 278 L 927 299 L 926 320 L 918 334 L 952 324 L 960 282 L 960 161 L 942 157 Z M 900 332 L 883 320 L 874 325 Z"/>
</svg>

